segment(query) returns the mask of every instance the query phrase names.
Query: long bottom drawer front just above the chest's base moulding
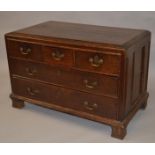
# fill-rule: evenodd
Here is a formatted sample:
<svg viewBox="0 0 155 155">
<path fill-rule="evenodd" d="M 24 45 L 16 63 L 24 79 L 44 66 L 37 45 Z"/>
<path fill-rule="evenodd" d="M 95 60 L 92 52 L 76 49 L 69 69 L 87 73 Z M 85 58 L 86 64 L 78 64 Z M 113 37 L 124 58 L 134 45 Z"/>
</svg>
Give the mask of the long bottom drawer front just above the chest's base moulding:
<svg viewBox="0 0 155 155">
<path fill-rule="evenodd" d="M 30 99 L 108 118 L 117 117 L 116 100 L 16 78 L 12 79 L 12 89 L 14 94 Z"/>
</svg>

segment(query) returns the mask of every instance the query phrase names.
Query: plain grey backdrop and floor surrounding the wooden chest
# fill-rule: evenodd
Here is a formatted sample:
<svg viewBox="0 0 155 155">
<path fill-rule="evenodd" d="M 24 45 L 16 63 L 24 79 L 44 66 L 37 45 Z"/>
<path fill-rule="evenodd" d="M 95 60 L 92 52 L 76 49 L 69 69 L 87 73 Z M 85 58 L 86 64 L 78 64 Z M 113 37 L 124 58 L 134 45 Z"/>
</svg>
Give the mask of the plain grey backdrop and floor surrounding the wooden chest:
<svg viewBox="0 0 155 155">
<path fill-rule="evenodd" d="M 100 123 L 31 104 L 22 110 L 11 107 L 4 34 L 48 20 L 152 32 L 148 107 L 133 118 L 123 141 L 111 138 L 111 128 Z M 155 12 L 0 12 L 0 142 L 155 142 L 154 34 Z"/>
</svg>

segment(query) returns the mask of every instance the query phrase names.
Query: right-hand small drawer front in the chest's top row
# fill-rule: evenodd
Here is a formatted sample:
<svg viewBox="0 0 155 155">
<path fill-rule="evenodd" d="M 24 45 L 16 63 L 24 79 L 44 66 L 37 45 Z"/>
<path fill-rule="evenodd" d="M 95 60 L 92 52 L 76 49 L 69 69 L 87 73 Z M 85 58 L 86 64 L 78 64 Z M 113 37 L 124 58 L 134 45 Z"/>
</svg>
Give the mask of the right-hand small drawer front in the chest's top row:
<svg viewBox="0 0 155 155">
<path fill-rule="evenodd" d="M 75 67 L 108 75 L 119 75 L 121 56 L 93 52 L 76 52 Z"/>
</svg>

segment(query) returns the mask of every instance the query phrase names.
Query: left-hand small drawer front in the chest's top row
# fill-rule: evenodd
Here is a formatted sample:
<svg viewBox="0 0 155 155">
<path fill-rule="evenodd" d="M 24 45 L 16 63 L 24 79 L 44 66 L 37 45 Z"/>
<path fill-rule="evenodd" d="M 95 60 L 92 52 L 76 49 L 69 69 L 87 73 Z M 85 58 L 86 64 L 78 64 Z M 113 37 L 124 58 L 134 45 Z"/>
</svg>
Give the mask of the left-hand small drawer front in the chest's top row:
<svg viewBox="0 0 155 155">
<path fill-rule="evenodd" d="M 11 57 L 42 61 L 41 46 L 39 45 L 7 40 L 7 51 Z"/>
</svg>

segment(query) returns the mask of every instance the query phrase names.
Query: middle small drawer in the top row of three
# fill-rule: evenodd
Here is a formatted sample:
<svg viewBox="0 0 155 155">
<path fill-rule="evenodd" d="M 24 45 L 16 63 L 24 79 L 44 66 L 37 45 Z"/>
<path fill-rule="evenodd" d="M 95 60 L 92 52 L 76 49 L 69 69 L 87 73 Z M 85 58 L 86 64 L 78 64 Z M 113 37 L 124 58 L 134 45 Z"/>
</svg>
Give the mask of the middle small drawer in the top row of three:
<svg viewBox="0 0 155 155">
<path fill-rule="evenodd" d="M 48 64 L 71 67 L 73 65 L 73 51 L 59 47 L 42 47 L 44 61 Z"/>
</svg>

